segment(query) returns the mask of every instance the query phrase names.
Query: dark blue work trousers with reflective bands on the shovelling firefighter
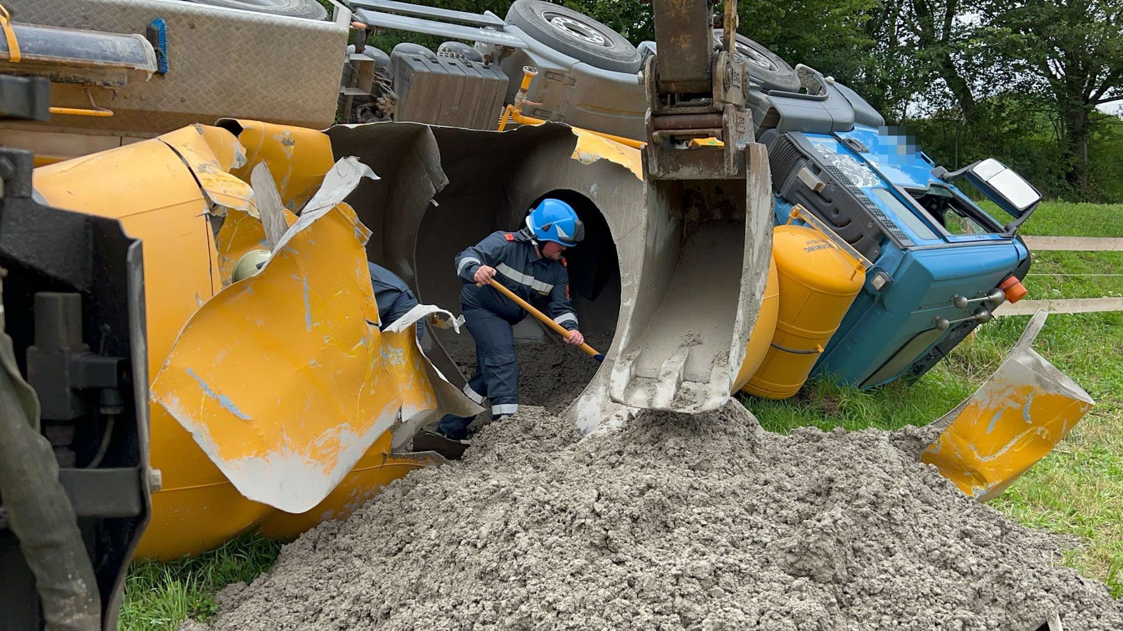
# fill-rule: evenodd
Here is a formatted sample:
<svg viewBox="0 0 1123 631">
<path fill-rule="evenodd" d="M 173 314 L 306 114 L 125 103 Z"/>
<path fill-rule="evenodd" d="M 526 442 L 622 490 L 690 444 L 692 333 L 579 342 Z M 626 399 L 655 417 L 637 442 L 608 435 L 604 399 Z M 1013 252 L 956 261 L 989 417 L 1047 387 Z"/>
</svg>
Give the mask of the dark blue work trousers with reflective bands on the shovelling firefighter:
<svg viewBox="0 0 1123 631">
<path fill-rule="evenodd" d="M 476 342 L 476 372 L 464 393 L 476 403 L 486 397 L 492 418 L 513 414 L 519 410 L 519 362 L 514 356 L 514 332 L 511 322 L 486 309 L 464 309 L 464 322 Z M 437 426 L 449 438 L 468 436 L 472 417 L 445 414 Z"/>
</svg>

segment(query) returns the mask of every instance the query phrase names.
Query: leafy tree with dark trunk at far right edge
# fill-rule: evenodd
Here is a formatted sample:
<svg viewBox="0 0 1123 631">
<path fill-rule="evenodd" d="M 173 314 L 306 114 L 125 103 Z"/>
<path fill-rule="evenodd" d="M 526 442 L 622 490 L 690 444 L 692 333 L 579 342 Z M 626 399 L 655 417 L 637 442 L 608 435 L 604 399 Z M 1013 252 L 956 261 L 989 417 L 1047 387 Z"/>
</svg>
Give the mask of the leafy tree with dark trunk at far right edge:
<svg viewBox="0 0 1123 631">
<path fill-rule="evenodd" d="M 1123 2 L 989 0 L 984 15 L 1021 84 L 1053 101 L 1066 179 L 1090 195 L 1093 112 L 1123 100 Z"/>
</svg>

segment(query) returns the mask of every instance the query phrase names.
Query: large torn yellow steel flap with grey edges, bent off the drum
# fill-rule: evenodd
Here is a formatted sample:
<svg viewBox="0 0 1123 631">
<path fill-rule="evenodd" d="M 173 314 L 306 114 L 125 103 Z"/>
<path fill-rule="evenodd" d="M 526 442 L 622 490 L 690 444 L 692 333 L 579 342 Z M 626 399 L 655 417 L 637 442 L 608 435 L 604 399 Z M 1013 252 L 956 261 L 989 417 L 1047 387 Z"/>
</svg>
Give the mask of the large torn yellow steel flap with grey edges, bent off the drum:
<svg viewBox="0 0 1123 631">
<path fill-rule="evenodd" d="M 416 337 L 383 339 L 376 326 L 363 232 L 343 203 L 291 232 L 259 273 L 195 312 L 153 383 L 153 400 L 250 500 L 312 509 L 403 404 L 407 417 L 436 405 L 410 357 Z"/>
</svg>

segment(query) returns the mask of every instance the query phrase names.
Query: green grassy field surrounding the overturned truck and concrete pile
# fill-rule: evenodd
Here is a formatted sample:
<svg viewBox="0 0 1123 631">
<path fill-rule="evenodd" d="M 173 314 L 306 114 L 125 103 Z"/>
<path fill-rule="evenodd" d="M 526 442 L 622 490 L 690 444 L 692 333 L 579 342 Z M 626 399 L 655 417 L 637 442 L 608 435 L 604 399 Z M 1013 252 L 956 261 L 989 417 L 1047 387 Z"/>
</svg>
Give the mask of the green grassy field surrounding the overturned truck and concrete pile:
<svg viewBox="0 0 1123 631">
<path fill-rule="evenodd" d="M 1123 205 L 1044 203 L 1023 232 L 1123 236 Z M 1039 253 L 1030 273 L 1029 298 L 1123 294 L 1123 253 Z M 766 428 L 777 432 L 801 426 L 855 430 L 925 424 L 970 395 L 997 368 L 1028 320 L 1004 317 L 980 327 L 911 386 L 895 383 L 860 392 L 812 382 L 787 401 L 743 401 Z M 1096 405 L 1060 446 L 992 504 L 1023 524 L 1071 536 L 1067 563 L 1107 583 L 1121 597 L 1123 313 L 1050 316 L 1034 348 L 1084 386 Z M 252 580 L 268 569 L 279 550 L 276 542 L 247 536 L 194 559 L 135 564 L 120 629 L 175 629 L 189 616 L 206 619 L 214 612 L 218 589 Z"/>
</svg>

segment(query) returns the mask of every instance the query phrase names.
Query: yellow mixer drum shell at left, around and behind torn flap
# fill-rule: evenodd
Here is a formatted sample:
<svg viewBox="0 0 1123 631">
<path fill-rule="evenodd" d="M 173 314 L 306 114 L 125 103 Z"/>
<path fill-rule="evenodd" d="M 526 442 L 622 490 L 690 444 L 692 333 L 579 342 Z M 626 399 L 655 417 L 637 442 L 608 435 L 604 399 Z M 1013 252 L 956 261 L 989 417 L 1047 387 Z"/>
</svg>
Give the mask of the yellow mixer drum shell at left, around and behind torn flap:
<svg viewBox="0 0 1123 631">
<path fill-rule="evenodd" d="M 301 146 L 304 131 L 311 136 L 319 134 L 295 130 L 295 146 Z M 273 137 L 284 146 L 283 134 Z M 245 162 L 248 179 L 255 163 L 246 159 L 246 153 L 234 140 L 222 129 L 192 127 L 166 137 L 40 166 L 34 172 L 36 190 L 48 203 L 119 218 L 129 235 L 143 239 L 150 376 L 158 374 L 191 316 L 223 286 L 209 209 L 212 204 L 229 204 L 226 208 L 235 210 L 227 211 L 228 219 L 243 220 L 256 212 L 252 203 L 245 203 L 252 193 L 218 174 L 227 165 L 234 168 Z M 264 140 L 263 144 L 270 145 Z M 294 154 L 294 158 L 296 155 L 310 154 Z M 326 163 L 323 154 L 320 156 L 325 166 L 318 176 L 307 175 L 314 170 L 305 171 L 305 165 L 293 170 L 301 175 L 290 179 L 289 200 L 303 196 L 307 201 L 314 192 L 331 166 L 330 154 Z M 189 163 L 193 168 L 189 168 Z M 206 193 L 195 179 L 200 173 L 213 186 Z M 244 227 L 248 229 L 248 223 Z M 241 235 L 243 241 L 250 238 Z M 366 281 L 368 286 L 369 278 Z M 302 293 L 294 298 L 302 302 Z M 216 340 L 237 340 L 244 331 L 221 328 L 211 335 Z M 412 333 L 394 335 L 408 338 Z M 408 384 L 417 378 L 420 350 L 416 345 L 390 346 L 386 353 L 391 359 L 383 362 L 387 378 L 401 387 L 411 387 Z M 237 377 L 252 381 L 255 375 L 248 372 Z M 410 410 L 427 403 L 423 388 L 418 390 L 400 397 Z M 153 494 L 153 518 L 136 551 L 138 558 L 171 559 L 198 554 L 258 525 L 270 534 L 295 536 L 322 519 L 345 516 L 383 485 L 430 463 L 392 455 L 391 437 L 383 435 L 331 494 L 311 511 L 294 515 L 238 493 L 191 435 L 158 404 L 150 405 L 150 439 L 152 466 L 162 472 L 163 487 Z"/>
</svg>

